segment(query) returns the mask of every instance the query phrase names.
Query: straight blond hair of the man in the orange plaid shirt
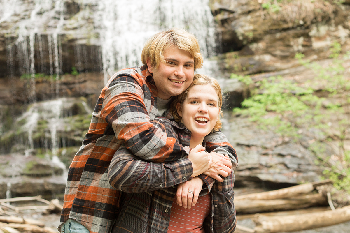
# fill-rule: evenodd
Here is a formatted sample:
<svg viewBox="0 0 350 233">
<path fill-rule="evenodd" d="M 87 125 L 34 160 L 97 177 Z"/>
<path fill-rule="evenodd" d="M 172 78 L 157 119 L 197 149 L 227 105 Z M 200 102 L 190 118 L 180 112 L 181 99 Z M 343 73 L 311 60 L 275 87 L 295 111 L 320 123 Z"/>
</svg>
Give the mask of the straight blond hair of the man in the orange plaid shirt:
<svg viewBox="0 0 350 233">
<path fill-rule="evenodd" d="M 149 38 L 141 53 L 142 64 L 146 65 L 147 58 L 150 58 L 151 66 L 158 68 L 160 62 L 165 63 L 164 50 L 172 45 L 191 54 L 194 58 L 195 70 L 203 66 L 203 57 L 197 38 L 180 28 L 161 31 Z"/>
</svg>

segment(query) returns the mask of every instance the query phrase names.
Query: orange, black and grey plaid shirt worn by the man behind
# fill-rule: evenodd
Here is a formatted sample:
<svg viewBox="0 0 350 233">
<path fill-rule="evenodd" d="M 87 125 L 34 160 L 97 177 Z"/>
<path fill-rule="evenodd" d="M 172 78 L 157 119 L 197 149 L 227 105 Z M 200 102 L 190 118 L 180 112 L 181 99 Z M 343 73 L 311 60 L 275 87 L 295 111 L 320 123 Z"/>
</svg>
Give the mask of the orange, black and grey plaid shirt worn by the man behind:
<svg viewBox="0 0 350 233">
<path fill-rule="evenodd" d="M 109 232 L 119 213 L 120 192 L 110 185 L 107 172 L 123 143 L 132 154 L 146 161 L 163 162 L 189 153 L 188 146 L 177 144 L 151 123 L 157 114 L 156 95 L 147 66 L 121 70 L 103 88 L 89 131 L 68 171 L 59 231 L 62 223 L 72 218 L 91 233 Z M 211 148 L 222 150 L 215 147 L 214 142 Z M 229 144 L 223 151 L 235 155 Z M 175 166 L 180 166 L 176 169 L 182 174 L 192 173 L 187 164 L 174 163 Z M 211 178 L 204 179 L 212 183 Z"/>
</svg>

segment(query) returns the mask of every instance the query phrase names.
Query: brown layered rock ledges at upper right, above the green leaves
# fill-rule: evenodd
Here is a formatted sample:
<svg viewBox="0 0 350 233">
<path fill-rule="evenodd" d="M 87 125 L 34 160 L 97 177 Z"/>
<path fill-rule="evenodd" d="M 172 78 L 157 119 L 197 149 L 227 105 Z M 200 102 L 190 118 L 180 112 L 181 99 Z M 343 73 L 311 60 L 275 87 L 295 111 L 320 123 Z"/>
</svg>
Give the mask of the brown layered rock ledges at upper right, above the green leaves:
<svg viewBox="0 0 350 233">
<path fill-rule="evenodd" d="M 262 0 L 211 1 L 221 36 L 223 70 L 256 74 L 295 67 L 302 52 L 324 59 L 334 41 L 349 50 L 349 3 L 290 1 L 279 11 L 264 9 Z M 294 14 L 294 13 L 295 14 Z"/>
</svg>

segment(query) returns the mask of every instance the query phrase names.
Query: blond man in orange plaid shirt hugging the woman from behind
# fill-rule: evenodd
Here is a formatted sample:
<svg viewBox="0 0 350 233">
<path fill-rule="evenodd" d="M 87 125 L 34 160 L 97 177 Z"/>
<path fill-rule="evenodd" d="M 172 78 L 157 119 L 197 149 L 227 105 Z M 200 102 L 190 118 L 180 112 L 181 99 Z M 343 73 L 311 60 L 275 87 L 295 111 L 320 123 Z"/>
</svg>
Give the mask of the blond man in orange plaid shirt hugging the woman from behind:
<svg viewBox="0 0 350 233">
<path fill-rule="evenodd" d="M 109 184 L 107 171 L 122 144 L 138 158 L 154 162 L 170 154 L 197 153 L 197 159 L 174 165 L 181 182 L 206 171 L 201 177 L 210 185 L 212 178 L 221 181 L 232 164 L 237 166 L 236 152 L 222 133 L 209 135 L 208 155 L 190 152 L 150 122 L 163 115 L 171 97 L 185 90 L 202 66 L 196 37 L 181 29 L 160 32 L 146 42 L 141 60 L 143 66 L 117 72 L 102 90 L 89 132 L 69 168 L 59 231 L 109 232 L 119 211 L 119 191 Z M 218 153 L 229 154 L 231 161 Z"/>
</svg>

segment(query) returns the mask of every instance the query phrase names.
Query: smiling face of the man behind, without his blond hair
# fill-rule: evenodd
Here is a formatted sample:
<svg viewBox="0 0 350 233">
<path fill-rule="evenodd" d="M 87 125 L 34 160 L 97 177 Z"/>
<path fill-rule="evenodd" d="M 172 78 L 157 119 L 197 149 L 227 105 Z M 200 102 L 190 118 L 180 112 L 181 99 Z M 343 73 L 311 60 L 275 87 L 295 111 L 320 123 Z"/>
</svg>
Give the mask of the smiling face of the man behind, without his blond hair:
<svg viewBox="0 0 350 233">
<path fill-rule="evenodd" d="M 161 62 L 158 68 L 149 64 L 148 71 L 153 74 L 158 97 L 168 100 L 186 90 L 193 81 L 194 58 L 189 52 L 170 46 L 163 52 L 166 63 Z"/>
</svg>

